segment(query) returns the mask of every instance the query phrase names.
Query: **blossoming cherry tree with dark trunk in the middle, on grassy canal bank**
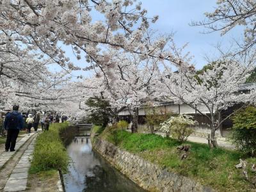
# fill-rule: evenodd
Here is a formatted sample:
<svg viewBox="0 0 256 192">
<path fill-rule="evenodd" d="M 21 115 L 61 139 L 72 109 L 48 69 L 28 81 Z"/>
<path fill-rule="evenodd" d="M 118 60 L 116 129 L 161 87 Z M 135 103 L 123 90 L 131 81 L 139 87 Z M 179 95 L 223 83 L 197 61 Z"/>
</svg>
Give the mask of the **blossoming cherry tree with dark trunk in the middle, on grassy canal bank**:
<svg viewBox="0 0 256 192">
<path fill-rule="evenodd" d="M 112 86 L 108 89 L 115 100 L 113 106 L 125 106 L 132 117 L 132 132 L 138 131 L 138 108 L 145 106 L 154 92 L 157 74 L 156 60 L 141 60 L 135 55 L 118 57 Z"/>
</svg>

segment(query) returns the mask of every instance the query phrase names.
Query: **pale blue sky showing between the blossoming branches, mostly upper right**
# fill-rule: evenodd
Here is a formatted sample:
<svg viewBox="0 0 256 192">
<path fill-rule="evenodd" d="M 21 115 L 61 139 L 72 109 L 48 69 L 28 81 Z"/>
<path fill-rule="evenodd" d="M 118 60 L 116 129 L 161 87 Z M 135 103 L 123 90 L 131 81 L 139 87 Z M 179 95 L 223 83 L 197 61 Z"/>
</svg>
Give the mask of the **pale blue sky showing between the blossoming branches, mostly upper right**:
<svg viewBox="0 0 256 192">
<path fill-rule="evenodd" d="M 205 55 L 210 58 L 218 56 L 219 52 L 216 51 L 214 45 L 221 44 L 223 47 L 228 47 L 232 38 L 241 38 L 243 31 L 239 29 L 232 30 L 225 36 L 220 36 L 219 32 L 202 34 L 204 27 L 191 27 L 191 21 L 204 20 L 205 12 L 214 11 L 216 0 L 141 0 L 142 8 L 148 10 L 148 17 L 159 15 L 159 20 L 152 24 L 150 28 L 157 30 L 160 34 L 168 34 L 175 32 L 174 40 L 179 46 L 186 43 L 188 47 L 186 51 L 191 52 L 194 56 L 193 63 L 196 68 L 202 68 L 207 61 Z M 102 19 L 98 15 L 94 15 L 93 20 Z M 86 63 L 77 61 L 72 56 L 72 50 L 68 47 L 64 49 L 70 60 L 74 63 L 84 66 Z M 90 72 L 73 72 L 74 75 L 83 74 L 83 76 L 90 76 Z"/>
</svg>

